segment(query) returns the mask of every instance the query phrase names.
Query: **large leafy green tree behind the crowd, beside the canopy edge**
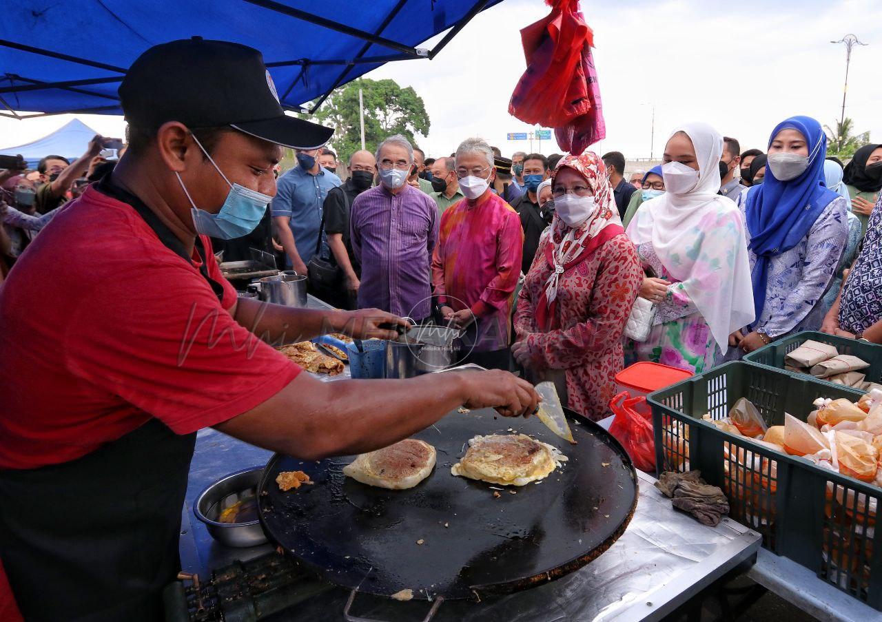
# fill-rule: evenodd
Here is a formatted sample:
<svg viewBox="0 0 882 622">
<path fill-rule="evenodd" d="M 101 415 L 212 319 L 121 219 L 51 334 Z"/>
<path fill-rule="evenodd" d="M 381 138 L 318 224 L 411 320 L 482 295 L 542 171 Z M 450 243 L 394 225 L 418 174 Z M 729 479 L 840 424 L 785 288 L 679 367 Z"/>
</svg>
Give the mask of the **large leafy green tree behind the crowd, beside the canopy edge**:
<svg viewBox="0 0 882 622">
<path fill-rule="evenodd" d="M 311 120 L 333 127 L 331 146 L 341 160 L 362 148 L 359 89 L 363 91 L 365 148 L 374 151 L 392 134 L 402 134 L 412 144 L 415 144 L 415 134 L 429 134 L 429 115 L 422 97 L 412 86 L 401 88 L 392 79 L 357 79 L 335 89 L 311 117 Z"/>
</svg>

